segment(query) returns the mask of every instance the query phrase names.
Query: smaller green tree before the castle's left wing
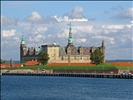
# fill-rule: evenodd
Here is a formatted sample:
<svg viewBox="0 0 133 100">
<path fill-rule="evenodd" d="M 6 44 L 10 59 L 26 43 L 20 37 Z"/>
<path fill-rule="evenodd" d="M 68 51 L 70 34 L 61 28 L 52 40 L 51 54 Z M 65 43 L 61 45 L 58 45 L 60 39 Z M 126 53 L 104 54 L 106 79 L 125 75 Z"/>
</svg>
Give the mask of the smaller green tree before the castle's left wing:
<svg viewBox="0 0 133 100">
<path fill-rule="evenodd" d="M 45 65 L 48 63 L 49 55 L 46 52 L 43 52 L 40 54 L 38 60 L 41 64 Z"/>
</svg>

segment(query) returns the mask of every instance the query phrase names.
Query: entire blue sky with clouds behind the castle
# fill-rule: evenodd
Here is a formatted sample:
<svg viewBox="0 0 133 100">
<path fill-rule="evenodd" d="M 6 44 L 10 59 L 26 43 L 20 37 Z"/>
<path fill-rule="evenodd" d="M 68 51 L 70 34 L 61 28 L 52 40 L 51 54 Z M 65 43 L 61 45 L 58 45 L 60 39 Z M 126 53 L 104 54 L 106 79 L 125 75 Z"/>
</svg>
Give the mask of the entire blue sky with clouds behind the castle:
<svg viewBox="0 0 133 100">
<path fill-rule="evenodd" d="M 104 40 L 106 60 L 133 59 L 132 13 L 132 1 L 2 1 L 2 59 L 19 60 L 22 33 L 28 47 L 67 45 L 70 22 L 76 46 Z"/>
</svg>

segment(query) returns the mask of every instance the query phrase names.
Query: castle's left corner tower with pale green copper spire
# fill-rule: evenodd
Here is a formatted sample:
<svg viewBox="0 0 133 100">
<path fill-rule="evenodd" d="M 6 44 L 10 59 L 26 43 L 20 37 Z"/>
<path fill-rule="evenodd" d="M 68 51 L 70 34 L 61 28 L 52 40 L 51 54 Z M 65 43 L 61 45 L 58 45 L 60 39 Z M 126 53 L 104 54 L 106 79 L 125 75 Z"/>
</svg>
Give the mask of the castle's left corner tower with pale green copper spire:
<svg viewBox="0 0 133 100">
<path fill-rule="evenodd" d="M 23 56 L 26 55 L 26 43 L 24 40 L 24 36 L 22 36 L 20 43 L 20 62 L 23 62 Z"/>
</svg>

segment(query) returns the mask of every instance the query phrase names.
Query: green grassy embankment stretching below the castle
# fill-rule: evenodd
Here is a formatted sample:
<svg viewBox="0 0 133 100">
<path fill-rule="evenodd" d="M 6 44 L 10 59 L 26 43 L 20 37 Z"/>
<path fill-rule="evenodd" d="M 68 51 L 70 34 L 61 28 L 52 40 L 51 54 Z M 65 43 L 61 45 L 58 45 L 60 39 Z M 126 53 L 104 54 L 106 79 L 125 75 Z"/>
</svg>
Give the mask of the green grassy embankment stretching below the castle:
<svg viewBox="0 0 133 100">
<path fill-rule="evenodd" d="M 18 68 L 1 68 L 1 69 L 18 69 Z M 47 66 L 47 65 L 37 65 L 37 66 L 24 66 L 19 69 L 55 69 L 55 70 L 113 70 L 113 69 L 123 69 L 123 70 L 133 70 L 133 66 L 113 66 L 110 64 L 99 64 L 97 66 Z"/>
</svg>

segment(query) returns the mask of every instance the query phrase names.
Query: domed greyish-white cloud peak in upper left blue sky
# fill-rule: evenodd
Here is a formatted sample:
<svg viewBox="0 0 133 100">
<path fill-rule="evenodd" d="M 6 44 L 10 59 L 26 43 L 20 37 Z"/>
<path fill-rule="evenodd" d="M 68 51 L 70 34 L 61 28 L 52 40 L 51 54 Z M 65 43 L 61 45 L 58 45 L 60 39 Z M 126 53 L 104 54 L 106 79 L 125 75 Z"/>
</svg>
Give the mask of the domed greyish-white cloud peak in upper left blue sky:
<svg viewBox="0 0 133 100">
<path fill-rule="evenodd" d="M 44 18 L 38 12 L 34 11 L 26 18 L 26 20 L 33 23 L 41 23 L 44 21 Z"/>
</svg>

